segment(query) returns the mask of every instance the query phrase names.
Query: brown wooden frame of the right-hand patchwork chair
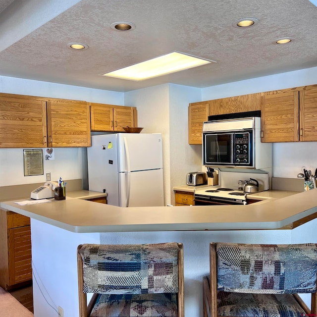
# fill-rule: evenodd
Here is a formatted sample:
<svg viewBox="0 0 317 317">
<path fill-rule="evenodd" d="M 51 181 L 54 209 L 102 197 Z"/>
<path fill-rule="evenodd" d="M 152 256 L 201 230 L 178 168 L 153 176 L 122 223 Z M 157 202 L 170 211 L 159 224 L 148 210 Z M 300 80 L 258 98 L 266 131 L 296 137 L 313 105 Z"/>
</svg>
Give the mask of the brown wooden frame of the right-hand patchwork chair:
<svg viewBox="0 0 317 317">
<path fill-rule="evenodd" d="M 307 316 L 317 316 L 317 293 L 312 293 L 311 310 L 298 294 L 293 294 L 298 304 Z M 217 253 L 216 243 L 210 244 L 210 283 L 207 277 L 203 279 L 203 316 L 218 317 L 217 313 Z"/>
</svg>

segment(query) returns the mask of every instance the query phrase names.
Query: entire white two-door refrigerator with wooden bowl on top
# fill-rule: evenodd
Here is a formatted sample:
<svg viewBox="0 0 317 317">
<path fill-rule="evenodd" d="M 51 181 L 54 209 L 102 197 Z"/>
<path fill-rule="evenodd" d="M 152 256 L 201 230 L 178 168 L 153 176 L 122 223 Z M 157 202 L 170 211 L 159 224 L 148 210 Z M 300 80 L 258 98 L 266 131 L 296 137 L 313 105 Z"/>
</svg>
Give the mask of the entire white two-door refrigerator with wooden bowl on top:
<svg viewBox="0 0 317 317">
<path fill-rule="evenodd" d="M 87 148 L 89 190 L 120 207 L 164 206 L 160 133 L 94 135 Z"/>
</svg>

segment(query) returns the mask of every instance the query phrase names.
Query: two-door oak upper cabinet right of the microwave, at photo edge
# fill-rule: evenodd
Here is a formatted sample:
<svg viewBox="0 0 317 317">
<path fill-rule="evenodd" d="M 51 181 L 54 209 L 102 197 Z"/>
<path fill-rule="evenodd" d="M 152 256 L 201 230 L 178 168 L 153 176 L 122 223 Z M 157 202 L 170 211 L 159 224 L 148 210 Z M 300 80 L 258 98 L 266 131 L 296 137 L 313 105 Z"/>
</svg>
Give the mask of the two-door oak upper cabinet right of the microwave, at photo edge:
<svg viewBox="0 0 317 317">
<path fill-rule="evenodd" d="M 317 141 L 317 85 L 262 93 L 262 142 Z"/>
</svg>

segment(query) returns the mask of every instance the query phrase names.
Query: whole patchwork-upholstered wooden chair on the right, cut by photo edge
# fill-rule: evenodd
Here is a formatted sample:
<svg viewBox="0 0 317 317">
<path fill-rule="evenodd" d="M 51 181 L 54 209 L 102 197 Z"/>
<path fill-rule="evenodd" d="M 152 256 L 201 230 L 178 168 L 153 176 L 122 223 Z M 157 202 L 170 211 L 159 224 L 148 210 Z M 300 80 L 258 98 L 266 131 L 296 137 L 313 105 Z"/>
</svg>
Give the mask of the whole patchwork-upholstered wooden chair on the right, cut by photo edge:
<svg viewBox="0 0 317 317">
<path fill-rule="evenodd" d="M 315 244 L 211 243 L 204 316 L 317 316 Z M 312 293 L 311 310 L 298 293 Z"/>
</svg>

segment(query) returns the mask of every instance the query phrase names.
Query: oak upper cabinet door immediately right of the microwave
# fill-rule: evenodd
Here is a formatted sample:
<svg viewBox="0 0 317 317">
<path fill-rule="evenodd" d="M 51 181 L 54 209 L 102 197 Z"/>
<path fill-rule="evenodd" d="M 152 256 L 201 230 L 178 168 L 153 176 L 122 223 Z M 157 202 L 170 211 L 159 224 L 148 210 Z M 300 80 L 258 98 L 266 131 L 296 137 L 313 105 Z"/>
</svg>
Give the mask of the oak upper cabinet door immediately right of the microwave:
<svg viewBox="0 0 317 317">
<path fill-rule="evenodd" d="M 299 91 L 262 94 L 262 142 L 299 141 Z"/>
</svg>

